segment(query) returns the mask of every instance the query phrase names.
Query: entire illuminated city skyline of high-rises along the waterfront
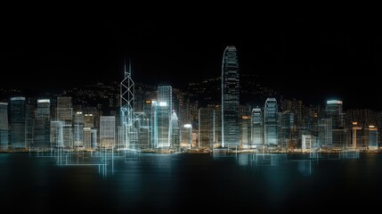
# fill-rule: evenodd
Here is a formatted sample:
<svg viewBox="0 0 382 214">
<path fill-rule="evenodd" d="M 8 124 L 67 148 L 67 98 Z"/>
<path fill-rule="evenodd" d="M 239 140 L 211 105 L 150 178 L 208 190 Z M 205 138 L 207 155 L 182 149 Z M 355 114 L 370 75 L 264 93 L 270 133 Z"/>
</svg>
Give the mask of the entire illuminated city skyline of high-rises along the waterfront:
<svg viewBox="0 0 382 214">
<path fill-rule="evenodd" d="M 225 48 L 222 76 L 186 95 L 172 86 L 137 86 L 131 68 L 116 86 L 82 90 L 96 103 L 72 95 L 29 98 L 12 96 L 0 103 L 0 151 L 146 150 L 211 151 L 227 148 L 258 152 L 377 151 L 381 113 L 343 110 L 341 100 L 321 106 L 266 97 L 261 105 L 240 105 L 240 66 L 235 46 Z M 210 88 L 220 101 L 195 98 Z M 212 95 L 212 94 L 210 94 Z M 214 94 L 215 95 L 215 94 Z M 210 102 L 209 102 L 210 101 Z M 102 106 L 103 105 L 103 106 Z M 200 104 L 201 105 L 201 104 Z M 108 111 L 103 111 L 108 106 Z"/>
</svg>

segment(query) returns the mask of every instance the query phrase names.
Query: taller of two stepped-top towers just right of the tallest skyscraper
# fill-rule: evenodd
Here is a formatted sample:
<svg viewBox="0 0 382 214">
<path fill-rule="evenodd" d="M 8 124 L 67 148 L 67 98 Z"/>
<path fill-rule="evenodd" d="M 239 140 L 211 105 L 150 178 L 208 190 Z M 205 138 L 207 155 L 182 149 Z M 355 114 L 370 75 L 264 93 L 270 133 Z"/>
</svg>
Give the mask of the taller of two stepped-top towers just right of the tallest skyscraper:
<svg viewBox="0 0 382 214">
<path fill-rule="evenodd" d="M 264 144 L 273 146 L 278 144 L 277 116 L 276 99 L 266 99 L 264 106 Z"/>
</svg>

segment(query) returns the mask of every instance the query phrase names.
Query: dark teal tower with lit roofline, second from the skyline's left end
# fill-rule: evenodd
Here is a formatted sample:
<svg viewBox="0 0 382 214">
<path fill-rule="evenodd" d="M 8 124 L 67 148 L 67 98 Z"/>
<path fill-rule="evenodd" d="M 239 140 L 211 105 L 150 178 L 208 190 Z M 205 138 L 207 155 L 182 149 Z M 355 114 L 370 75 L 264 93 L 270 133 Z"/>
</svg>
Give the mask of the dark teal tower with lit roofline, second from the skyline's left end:
<svg viewBox="0 0 382 214">
<path fill-rule="evenodd" d="M 11 148 L 25 149 L 26 103 L 25 97 L 11 97 L 10 103 Z"/>
</svg>

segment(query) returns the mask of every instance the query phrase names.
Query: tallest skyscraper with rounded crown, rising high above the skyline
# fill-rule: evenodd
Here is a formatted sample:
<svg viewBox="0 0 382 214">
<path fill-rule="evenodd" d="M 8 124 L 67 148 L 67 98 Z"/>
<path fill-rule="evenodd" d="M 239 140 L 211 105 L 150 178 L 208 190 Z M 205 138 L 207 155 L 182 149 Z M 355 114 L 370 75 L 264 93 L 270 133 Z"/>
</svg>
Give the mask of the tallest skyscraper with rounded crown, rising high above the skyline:
<svg viewBox="0 0 382 214">
<path fill-rule="evenodd" d="M 236 47 L 228 45 L 222 63 L 222 146 L 239 146 L 239 61 Z"/>
</svg>

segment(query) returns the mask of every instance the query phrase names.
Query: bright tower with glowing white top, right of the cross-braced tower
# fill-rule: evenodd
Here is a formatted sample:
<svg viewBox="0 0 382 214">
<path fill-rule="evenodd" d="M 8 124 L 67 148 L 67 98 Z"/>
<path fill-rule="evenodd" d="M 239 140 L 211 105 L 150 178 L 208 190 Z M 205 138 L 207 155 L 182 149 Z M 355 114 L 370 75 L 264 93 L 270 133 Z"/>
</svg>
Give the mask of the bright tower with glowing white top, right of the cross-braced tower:
<svg viewBox="0 0 382 214">
<path fill-rule="evenodd" d="M 170 148 L 170 118 L 168 104 L 160 102 L 155 108 L 154 139 L 156 148 Z"/>
</svg>

